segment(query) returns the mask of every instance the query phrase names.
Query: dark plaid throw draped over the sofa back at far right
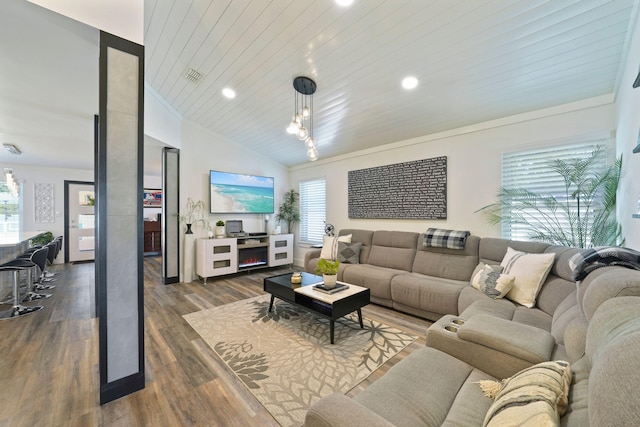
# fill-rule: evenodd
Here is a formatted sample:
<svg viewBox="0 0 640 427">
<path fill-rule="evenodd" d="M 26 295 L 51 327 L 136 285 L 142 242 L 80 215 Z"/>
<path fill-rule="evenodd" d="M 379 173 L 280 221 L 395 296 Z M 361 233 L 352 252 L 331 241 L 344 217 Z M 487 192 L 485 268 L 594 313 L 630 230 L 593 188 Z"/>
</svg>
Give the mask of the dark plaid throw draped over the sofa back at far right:
<svg viewBox="0 0 640 427">
<path fill-rule="evenodd" d="M 598 246 L 585 249 L 569 260 L 571 277 L 576 282 L 587 277 L 593 270 L 609 265 L 640 270 L 640 252 L 620 246 Z"/>
</svg>

